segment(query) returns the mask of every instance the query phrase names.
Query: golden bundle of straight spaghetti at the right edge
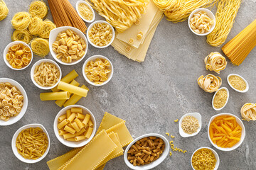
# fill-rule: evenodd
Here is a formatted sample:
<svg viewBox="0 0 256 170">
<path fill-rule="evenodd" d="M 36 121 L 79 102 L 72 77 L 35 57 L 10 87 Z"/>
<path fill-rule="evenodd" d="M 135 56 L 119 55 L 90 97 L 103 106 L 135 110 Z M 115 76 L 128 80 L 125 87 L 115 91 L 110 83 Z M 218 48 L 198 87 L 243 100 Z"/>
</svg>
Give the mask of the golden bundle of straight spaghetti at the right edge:
<svg viewBox="0 0 256 170">
<path fill-rule="evenodd" d="M 233 64 L 240 65 L 255 46 L 256 20 L 250 23 L 249 26 L 226 43 L 221 49 Z"/>
</svg>

